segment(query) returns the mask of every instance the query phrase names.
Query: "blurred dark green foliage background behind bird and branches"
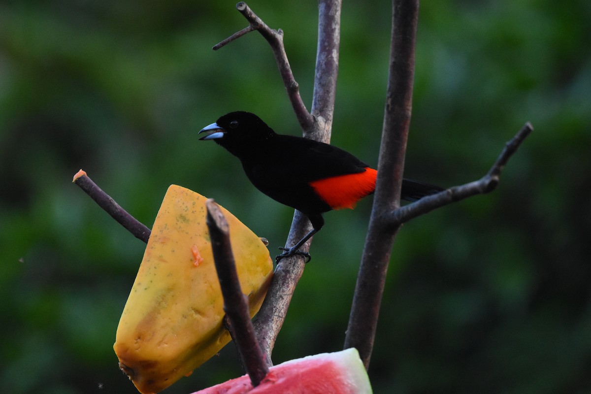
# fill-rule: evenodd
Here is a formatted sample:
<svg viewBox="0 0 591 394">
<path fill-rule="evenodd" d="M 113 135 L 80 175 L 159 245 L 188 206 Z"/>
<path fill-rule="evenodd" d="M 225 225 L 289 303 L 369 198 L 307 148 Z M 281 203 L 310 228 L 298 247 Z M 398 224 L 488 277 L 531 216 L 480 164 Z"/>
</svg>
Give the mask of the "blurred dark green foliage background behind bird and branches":
<svg viewBox="0 0 591 394">
<path fill-rule="evenodd" d="M 115 329 L 144 245 L 71 183 L 85 169 L 151 226 L 170 184 L 216 200 L 272 255 L 293 211 L 197 131 L 230 110 L 299 134 L 267 43 L 234 1 L 0 2 L 0 388 L 135 393 Z M 251 0 L 310 106 L 316 2 Z M 376 393 L 591 392 L 591 2 L 424 2 L 408 177 L 498 190 L 406 224 L 369 376 Z M 345 2 L 333 144 L 376 165 L 390 4 Z M 342 348 L 371 198 L 325 216 L 275 363 Z M 165 392 L 241 375 L 233 345 Z"/>
</svg>

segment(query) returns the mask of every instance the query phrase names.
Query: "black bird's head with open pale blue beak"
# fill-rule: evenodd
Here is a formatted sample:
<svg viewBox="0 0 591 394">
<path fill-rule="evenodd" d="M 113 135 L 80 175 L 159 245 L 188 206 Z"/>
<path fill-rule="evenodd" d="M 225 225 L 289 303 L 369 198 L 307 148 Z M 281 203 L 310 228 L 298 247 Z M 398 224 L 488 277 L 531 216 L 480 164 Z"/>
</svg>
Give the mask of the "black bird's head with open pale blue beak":
<svg viewBox="0 0 591 394">
<path fill-rule="evenodd" d="M 203 141 L 213 139 L 238 157 L 243 157 L 246 152 L 251 152 L 253 148 L 275 135 L 261 118 L 244 111 L 226 113 L 215 123 L 205 126 L 199 133 L 207 133 L 200 138 Z"/>
</svg>

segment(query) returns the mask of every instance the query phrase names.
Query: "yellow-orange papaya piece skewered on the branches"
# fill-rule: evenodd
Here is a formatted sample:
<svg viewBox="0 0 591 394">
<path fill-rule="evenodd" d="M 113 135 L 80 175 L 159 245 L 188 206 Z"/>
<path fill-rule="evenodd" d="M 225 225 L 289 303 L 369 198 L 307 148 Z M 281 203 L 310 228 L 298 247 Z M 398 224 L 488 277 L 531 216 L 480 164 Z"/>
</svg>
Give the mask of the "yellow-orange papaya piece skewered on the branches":
<svg viewBox="0 0 591 394">
<path fill-rule="evenodd" d="M 189 189 L 168 188 L 119 321 L 113 349 L 142 394 L 190 375 L 230 341 L 205 201 Z M 252 317 L 267 293 L 273 263 L 261 239 L 222 211 Z"/>
</svg>

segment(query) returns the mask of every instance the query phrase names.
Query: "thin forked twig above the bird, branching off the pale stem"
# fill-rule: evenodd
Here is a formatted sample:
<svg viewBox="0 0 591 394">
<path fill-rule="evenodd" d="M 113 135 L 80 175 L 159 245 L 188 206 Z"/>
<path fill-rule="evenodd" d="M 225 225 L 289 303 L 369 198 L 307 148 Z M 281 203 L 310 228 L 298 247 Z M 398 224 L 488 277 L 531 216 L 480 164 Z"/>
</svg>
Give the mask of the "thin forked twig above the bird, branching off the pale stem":
<svg viewBox="0 0 591 394">
<path fill-rule="evenodd" d="M 236 32 L 219 44 L 214 45 L 213 49 L 218 50 L 224 45 L 236 40 L 236 38 L 242 37 L 242 35 L 249 31 L 257 30 L 259 33 L 261 33 L 261 35 L 271 46 L 273 56 L 275 57 L 277 67 L 279 68 L 279 72 L 281 74 L 281 79 L 283 80 L 285 90 L 287 90 L 287 96 L 290 99 L 291 106 L 296 113 L 296 117 L 300 123 L 301 128 L 303 130 L 311 129 L 314 125 L 314 118 L 310 115 L 306 109 L 306 105 L 304 105 L 304 102 L 301 99 L 300 86 L 296 82 L 293 72 L 291 71 L 290 62 L 287 59 L 287 54 L 285 53 L 285 47 L 283 44 L 283 31 L 281 29 L 273 30 L 269 28 L 261 18 L 252 12 L 252 9 L 250 9 L 245 2 L 241 1 L 236 4 L 236 9 L 238 9 L 238 11 L 240 11 L 240 13 L 249 22 L 249 27 Z"/>
</svg>

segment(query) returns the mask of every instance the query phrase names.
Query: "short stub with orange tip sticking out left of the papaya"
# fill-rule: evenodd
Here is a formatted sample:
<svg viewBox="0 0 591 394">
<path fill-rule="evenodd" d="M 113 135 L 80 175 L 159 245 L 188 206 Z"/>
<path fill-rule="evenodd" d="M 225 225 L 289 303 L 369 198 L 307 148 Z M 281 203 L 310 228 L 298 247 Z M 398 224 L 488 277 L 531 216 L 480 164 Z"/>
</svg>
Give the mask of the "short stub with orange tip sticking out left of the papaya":
<svg viewBox="0 0 591 394">
<path fill-rule="evenodd" d="M 137 239 L 148 243 L 151 230 L 121 208 L 111 196 L 102 191 L 100 187 L 98 187 L 98 185 L 86 175 L 85 171 L 78 171 L 76 175 L 74 175 L 72 182 L 79 185 L 90 198 L 99 204 L 99 207 L 111 215 L 113 219 L 121 224 L 121 226 L 124 226 L 125 229 L 132 233 Z"/>
</svg>

